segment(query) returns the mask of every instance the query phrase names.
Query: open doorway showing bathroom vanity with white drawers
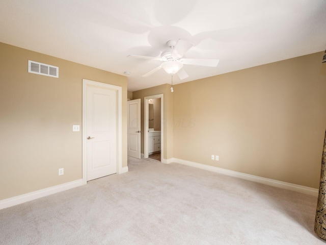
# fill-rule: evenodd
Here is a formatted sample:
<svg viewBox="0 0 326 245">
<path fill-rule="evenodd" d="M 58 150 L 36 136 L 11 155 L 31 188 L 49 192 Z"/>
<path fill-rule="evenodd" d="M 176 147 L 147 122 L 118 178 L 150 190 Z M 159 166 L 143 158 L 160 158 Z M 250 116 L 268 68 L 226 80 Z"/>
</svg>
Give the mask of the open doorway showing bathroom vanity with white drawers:
<svg viewBox="0 0 326 245">
<path fill-rule="evenodd" d="M 163 94 L 144 98 L 144 157 L 162 162 L 164 156 Z"/>
</svg>

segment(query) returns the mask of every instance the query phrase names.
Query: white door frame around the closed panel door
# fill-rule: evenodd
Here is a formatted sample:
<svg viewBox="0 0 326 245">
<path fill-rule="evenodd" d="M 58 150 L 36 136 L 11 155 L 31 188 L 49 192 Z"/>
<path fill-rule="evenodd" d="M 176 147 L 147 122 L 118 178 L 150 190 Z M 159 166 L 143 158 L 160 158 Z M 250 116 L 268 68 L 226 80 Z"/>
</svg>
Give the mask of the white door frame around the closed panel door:
<svg viewBox="0 0 326 245">
<path fill-rule="evenodd" d="M 122 173 L 122 87 L 94 82 L 83 79 L 83 184 L 87 184 L 87 161 L 86 161 L 86 106 L 87 106 L 87 86 L 100 87 L 115 90 L 117 93 L 117 174 Z"/>
</svg>

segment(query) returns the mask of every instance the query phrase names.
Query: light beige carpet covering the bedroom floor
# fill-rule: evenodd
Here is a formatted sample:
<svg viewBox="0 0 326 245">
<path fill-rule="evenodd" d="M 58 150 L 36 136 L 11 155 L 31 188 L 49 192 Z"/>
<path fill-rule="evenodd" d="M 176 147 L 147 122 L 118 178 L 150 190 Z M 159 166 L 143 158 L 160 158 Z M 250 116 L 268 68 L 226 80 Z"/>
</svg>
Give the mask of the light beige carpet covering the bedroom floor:
<svg viewBox="0 0 326 245">
<path fill-rule="evenodd" d="M 310 195 L 152 159 L 128 166 L 0 210 L 0 243 L 326 244 Z"/>
</svg>

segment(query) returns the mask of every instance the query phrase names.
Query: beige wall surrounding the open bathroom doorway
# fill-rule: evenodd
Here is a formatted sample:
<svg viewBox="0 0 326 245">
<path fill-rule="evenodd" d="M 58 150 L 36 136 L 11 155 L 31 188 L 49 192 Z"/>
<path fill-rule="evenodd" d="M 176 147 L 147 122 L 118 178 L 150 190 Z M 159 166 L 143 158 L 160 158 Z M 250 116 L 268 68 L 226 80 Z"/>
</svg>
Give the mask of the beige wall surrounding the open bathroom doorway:
<svg viewBox="0 0 326 245">
<path fill-rule="evenodd" d="M 142 89 L 132 92 L 133 100 L 141 99 L 141 151 L 144 153 L 144 97 L 164 94 L 164 159 L 173 157 L 173 93 L 171 93 L 171 85 L 164 84 L 148 89 Z"/>
</svg>

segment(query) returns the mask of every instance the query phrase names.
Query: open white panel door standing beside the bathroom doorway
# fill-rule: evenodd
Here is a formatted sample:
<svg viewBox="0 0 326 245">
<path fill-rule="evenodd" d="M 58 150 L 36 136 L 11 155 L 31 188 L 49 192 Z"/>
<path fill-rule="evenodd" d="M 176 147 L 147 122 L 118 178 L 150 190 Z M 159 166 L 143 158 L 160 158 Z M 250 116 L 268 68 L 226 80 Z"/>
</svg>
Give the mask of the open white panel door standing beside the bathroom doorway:
<svg viewBox="0 0 326 245">
<path fill-rule="evenodd" d="M 128 101 L 128 156 L 141 158 L 141 99 Z"/>
</svg>

